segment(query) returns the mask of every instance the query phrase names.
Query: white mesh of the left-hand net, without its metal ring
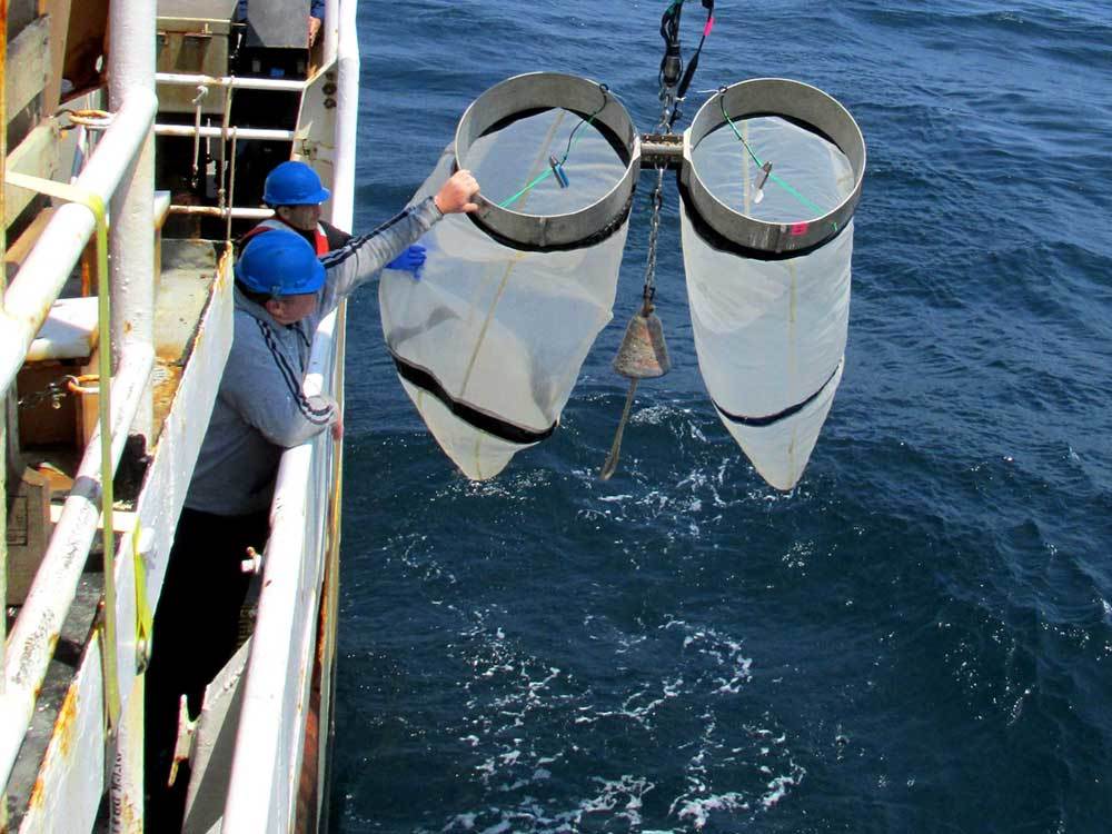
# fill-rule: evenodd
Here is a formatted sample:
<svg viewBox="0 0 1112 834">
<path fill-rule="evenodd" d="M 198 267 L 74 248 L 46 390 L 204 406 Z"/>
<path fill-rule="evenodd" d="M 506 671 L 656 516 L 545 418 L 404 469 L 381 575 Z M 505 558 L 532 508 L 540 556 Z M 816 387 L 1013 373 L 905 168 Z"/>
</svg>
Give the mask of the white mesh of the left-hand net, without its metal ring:
<svg viewBox="0 0 1112 834">
<path fill-rule="evenodd" d="M 549 156 L 565 155 L 569 185 L 560 188 Z M 451 162 L 445 151 L 415 201 L 440 188 Z M 599 131 L 559 108 L 478 139 L 460 165 L 487 199 L 549 216 L 590 205 L 625 171 Z M 555 429 L 610 320 L 627 227 L 628 217 L 578 249 L 522 251 L 450 215 L 421 239 L 428 251 L 419 280 L 384 270 L 383 331 L 403 386 L 468 478 L 494 477 Z"/>
</svg>

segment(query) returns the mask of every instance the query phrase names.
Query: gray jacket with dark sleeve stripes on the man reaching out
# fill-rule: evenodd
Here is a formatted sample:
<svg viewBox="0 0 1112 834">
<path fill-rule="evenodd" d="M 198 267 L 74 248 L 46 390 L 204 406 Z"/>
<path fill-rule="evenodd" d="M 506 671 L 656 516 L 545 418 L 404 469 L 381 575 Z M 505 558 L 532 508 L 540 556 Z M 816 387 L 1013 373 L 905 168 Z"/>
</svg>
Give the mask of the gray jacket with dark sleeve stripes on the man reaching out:
<svg viewBox="0 0 1112 834">
<path fill-rule="evenodd" d="M 428 198 L 328 252 L 321 258 L 326 278 L 317 311 L 297 324 L 278 324 L 235 290 L 231 353 L 189 483 L 187 507 L 235 516 L 270 505 L 282 451 L 336 421 L 335 405 L 310 401 L 301 393 L 317 325 L 440 217 Z"/>
</svg>

